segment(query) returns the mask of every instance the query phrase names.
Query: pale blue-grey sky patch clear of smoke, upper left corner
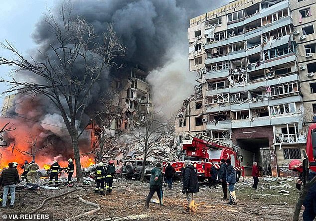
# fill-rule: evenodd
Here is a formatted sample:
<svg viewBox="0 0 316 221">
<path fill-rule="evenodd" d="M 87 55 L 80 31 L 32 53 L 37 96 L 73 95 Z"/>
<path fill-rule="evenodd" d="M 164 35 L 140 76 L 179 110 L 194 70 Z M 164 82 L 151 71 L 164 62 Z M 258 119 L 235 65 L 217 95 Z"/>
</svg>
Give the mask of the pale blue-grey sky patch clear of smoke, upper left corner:
<svg viewBox="0 0 316 221">
<path fill-rule="evenodd" d="M 52 7 L 53 0 L 1 0 L 0 3 L 0 41 L 8 40 L 29 57 L 31 49 L 36 49 L 32 33 L 46 6 Z M 9 53 L 0 48 L 0 56 L 8 57 Z M 6 77 L 10 68 L 0 66 L 0 77 Z M 0 93 L 5 85 L 0 85 Z M 0 107 L 3 97 L 0 97 Z"/>
</svg>

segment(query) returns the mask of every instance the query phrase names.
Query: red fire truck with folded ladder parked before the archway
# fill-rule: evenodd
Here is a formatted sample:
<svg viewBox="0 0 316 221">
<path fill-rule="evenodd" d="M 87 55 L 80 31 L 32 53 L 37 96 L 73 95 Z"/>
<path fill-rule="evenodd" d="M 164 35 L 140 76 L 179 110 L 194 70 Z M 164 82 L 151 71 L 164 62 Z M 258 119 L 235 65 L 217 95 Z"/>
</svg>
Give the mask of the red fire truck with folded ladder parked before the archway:
<svg viewBox="0 0 316 221">
<path fill-rule="evenodd" d="M 170 162 L 177 176 L 181 176 L 184 160 L 190 159 L 196 168 L 198 180 L 203 182 L 211 177 L 212 163 L 219 169 L 220 160 L 224 158 L 231 160 L 231 165 L 236 170 L 237 181 L 241 176 L 244 178 L 244 167 L 240 166 L 243 157 L 239 154 L 238 146 L 193 132 L 183 134 L 182 145 L 185 152 L 183 161 Z M 166 163 L 163 163 L 163 169 L 165 165 Z"/>
</svg>

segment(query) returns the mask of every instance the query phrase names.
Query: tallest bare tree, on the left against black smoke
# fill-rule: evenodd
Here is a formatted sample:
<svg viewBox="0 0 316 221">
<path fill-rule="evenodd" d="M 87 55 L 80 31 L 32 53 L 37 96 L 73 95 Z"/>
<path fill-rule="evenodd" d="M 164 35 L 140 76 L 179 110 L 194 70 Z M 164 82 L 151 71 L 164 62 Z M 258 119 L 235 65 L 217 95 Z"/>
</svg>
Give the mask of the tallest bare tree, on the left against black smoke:
<svg viewBox="0 0 316 221">
<path fill-rule="evenodd" d="M 21 93 L 44 95 L 58 108 L 72 140 L 77 179 L 81 183 L 83 177 L 78 140 L 83 133 L 80 126 L 91 89 L 108 69 L 119 68 L 115 60 L 125 55 L 125 46 L 121 44 L 112 24 L 108 25 L 102 36 L 98 36 L 92 24 L 84 19 L 72 19 L 71 9 L 64 2 L 58 17 L 47 10 L 45 21 L 56 43 L 47 45 L 49 54 L 41 52 L 44 60 L 27 60 L 8 41 L 0 45 L 15 56 L 10 59 L 0 57 L 0 65 L 12 66 L 15 72 L 27 71 L 32 77 L 32 81 L 12 77 L 12 80 L 2 79 L 0 82 L 12 85 L 4 93 L 19 90 Z"/>
</svg>

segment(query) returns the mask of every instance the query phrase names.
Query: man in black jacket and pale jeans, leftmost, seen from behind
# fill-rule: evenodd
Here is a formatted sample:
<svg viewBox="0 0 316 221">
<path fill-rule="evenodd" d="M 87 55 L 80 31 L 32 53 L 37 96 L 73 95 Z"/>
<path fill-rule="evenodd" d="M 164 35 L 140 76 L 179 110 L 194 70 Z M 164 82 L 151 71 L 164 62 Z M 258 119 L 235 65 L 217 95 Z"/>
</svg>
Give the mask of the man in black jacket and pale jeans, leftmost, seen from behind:
<svg viewBox="0 0 316 221">
<path fill-rule="evenodd" d="M 3 187 L 2 208 L 6 207 L 6 197 L 10 190 L 10 207 L 14 206 L 15 184 L 20 182 L 17 170 L 13 168 L 13 163 L 8 164 L 9 168 L 2 171 L 0 175 L 0 185 Z"/>
</svg>

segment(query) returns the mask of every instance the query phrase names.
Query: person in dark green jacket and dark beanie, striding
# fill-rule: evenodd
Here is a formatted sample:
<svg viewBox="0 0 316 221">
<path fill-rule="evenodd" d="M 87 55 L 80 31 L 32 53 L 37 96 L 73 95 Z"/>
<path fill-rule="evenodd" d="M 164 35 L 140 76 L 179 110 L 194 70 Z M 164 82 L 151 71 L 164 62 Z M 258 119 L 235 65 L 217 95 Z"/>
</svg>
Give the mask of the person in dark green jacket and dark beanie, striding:
<svg viewBox="0 0 316 221">
<path fill-rule="evenodd" d="M 151 201 L 152 197 L 154 196 L 155 193 L 157 193 L 158 198 L 159 198 L 159 203 L 161 206 L 163 205 L 163 193 L 162 193 L 162 182 L 163 182 L 163 177 L 161 173 L 161 164 L 157 163 L 154 169 L 151 171 L 151 179 L 149 182 L 149 194 L 146 199 L 146 208 L 149 209 L 149 202 Z"/>
</svg>

